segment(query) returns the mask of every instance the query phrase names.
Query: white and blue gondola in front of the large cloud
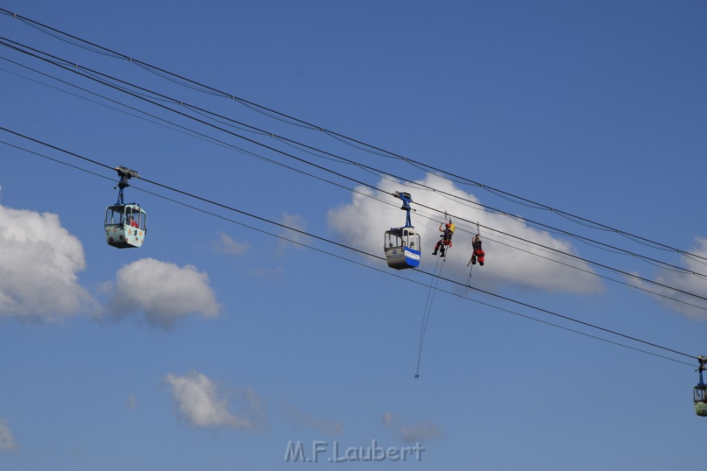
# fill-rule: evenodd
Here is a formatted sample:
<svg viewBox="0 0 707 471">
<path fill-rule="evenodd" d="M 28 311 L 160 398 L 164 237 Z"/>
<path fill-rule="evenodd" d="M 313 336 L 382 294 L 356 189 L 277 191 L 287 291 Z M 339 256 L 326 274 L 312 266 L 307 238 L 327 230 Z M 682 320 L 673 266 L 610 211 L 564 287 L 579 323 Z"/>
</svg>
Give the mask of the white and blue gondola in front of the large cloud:
<svg viewBox="0 0 707 471">
<path fill-rule="evenodd" d="M 392 193 L 396 198 L 402 199 L 402 210 L 407 211 L 405 225 L 403 227 L 391 227 L 385 231 L 383 248 L 385 249 L 385 260 L 390 268 L 402 270 L 404 268 L 416 268 L 420 266 L 420 234 L 415 232 L 415 228 L 410 222 L 410 203 L 412 197 L 410 193 L 395 191 Z"/>
</svg>

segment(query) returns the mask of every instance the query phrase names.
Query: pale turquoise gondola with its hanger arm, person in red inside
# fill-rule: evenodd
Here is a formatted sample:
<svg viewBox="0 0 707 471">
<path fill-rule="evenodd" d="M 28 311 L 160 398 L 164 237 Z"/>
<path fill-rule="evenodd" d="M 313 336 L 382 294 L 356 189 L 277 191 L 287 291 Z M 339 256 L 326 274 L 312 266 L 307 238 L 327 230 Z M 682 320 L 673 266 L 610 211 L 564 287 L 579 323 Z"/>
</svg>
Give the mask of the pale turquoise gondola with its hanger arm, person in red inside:
<svg viewBox="0 0 707 471">
<path fill-rule="evenodd" d="M 118 182 L 118 201 L 105 208 L 105 241 L 118 249 L 130 249 L 142 246 L 147 232 L 147 213 L 138 203 L 125 204 L 123 189 L 131 177 L 140 178 L 134 170 L 115 167 Z"/>
</svg>

